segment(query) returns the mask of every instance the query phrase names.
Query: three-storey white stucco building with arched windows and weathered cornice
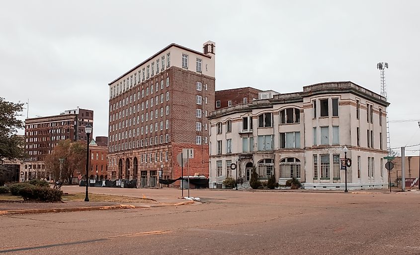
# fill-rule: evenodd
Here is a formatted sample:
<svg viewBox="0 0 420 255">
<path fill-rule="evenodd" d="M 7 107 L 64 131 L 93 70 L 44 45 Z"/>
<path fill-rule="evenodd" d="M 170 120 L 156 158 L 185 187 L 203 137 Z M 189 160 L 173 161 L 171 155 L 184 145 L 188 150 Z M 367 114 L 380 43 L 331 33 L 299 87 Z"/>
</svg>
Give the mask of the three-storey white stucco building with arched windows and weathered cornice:
<svg viewBox="0 0 420 255">
<path fill-rule="evenodd" d="M 236 171 L 249 182 L 255 166 L 261 181 L 274 174 L 280 184 L 296 177 L 305 189 L 344 189 L 344 146 L 352 161 L 349 190 L 388 187 L 384 97 L 350 81 L 259 94 L 250 104 L 210 114 L 210 188 L 235 179 Z"/>
</svg>

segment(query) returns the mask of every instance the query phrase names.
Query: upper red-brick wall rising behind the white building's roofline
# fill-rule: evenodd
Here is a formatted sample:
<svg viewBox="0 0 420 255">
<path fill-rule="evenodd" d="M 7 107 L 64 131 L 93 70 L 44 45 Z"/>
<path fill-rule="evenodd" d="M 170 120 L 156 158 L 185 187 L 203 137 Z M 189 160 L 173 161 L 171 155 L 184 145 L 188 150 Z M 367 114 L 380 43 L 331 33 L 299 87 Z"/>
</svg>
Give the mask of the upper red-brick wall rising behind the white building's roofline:
<svg viewBox="0 0 420 255">
<path fill-rule="evenodd" d="M 214 108 L 218 110 L 235 105 L 251 104 L 253 99 L 258 99 L 259 92 L 261 90 L 252 87 L 217 90 L 214 96 Z"/>
</svg>

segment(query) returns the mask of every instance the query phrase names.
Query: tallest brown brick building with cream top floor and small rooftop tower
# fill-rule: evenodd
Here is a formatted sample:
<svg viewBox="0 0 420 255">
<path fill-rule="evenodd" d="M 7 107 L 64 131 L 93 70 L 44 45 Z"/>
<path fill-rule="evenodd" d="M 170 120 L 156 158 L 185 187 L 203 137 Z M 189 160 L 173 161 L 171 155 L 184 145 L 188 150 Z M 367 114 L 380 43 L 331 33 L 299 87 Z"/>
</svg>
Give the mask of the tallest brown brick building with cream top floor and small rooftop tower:
<svg viewBox="0 0 420 255">
<path fill-rule="evenodd" d="M 208 176 L 216 44 L 197 52 L 170 44 L 109 83 L 108 176 L 141 187 L 178 178 L 183 148 L 194 149 L 190 174 Z M 185 175 L 185 173 L 184 173 Z"/>
</svg>

